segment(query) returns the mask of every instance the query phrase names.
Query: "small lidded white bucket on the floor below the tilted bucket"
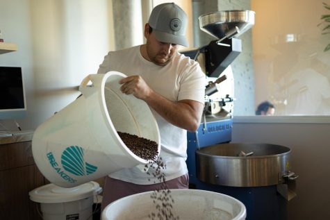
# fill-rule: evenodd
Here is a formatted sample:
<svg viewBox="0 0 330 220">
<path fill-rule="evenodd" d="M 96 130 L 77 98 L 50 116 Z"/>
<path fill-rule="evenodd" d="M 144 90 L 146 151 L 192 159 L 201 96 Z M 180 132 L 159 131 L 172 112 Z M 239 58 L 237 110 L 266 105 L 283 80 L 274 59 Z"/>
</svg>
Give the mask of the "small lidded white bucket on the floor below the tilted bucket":
<svg viewBox="0 0 330 220">
<path fill-rule="evenodd" d="M 89 182 L 72 188 L 53 184 L 44 185 L 29 192 L 30 199 L 40 203 L 44 220 L 92 220 L 94 196 L 102 189 L 96 182 Z"/>
</svg>

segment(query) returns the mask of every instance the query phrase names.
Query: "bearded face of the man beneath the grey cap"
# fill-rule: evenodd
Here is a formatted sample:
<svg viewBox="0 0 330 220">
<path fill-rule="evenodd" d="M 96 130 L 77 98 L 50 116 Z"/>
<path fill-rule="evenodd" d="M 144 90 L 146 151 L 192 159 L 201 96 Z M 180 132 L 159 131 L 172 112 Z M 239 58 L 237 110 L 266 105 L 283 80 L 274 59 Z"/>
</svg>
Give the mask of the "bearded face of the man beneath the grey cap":
<svg viewBox="0 0 330 220">
<path fill-rule="evenodd" d="M 145 31 L 145 37 L 147 39 L 147 54 L 149 60 L 156 65 L 165 66 L 173 58 L 173 54 L 178 47 L 177 44 L 170 44 L 166 42 L 159 42 L 154 33 Z"/>
</svg>

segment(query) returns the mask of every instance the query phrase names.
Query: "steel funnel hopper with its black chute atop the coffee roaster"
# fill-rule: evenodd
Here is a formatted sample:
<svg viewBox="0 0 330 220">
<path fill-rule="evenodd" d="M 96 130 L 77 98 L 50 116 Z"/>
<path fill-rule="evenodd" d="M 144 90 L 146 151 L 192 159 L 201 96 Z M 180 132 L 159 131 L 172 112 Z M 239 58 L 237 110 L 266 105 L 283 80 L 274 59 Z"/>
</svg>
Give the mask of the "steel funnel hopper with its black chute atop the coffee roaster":
<svg viewBox="0 0 330 220">
<path fill-rule="evenodd" d="M 206 74 L 217 77 L 242 51 L 240 35 L 254 26 L 251 10 L 226 10 L 199 17 L 199 27 L 217 40 L 206 46 Z"/>
</svg>

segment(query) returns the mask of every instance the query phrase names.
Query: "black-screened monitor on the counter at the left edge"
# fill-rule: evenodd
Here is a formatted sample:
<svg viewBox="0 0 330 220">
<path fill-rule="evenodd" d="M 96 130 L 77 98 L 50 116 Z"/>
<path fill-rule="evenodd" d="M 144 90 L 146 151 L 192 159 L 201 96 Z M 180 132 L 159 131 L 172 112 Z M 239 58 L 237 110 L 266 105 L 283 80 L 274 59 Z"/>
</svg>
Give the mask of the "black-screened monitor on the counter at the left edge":
<svg viewBox="0 0 330 220">
<path fill-rule="evenodd" d="M 26 114 L 21 67 L 0 67 L 0 119 L 17 119 Z"/>
</svg>

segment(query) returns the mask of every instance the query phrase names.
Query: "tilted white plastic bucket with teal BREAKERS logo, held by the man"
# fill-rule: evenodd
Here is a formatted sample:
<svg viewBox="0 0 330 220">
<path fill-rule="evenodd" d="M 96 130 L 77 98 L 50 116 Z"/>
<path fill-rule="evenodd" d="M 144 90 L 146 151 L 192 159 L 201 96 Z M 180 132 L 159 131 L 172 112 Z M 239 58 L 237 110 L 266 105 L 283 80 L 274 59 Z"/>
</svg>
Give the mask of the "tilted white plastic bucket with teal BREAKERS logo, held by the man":
<svg viewBox="0 0 330 220">
<path fill-rule="evenodd" d="M 160 153 L 156 119 L 145 101 L 119 90 L 123 77 L 117 71 L 88 75 L 82 96 L 35 130 L 33 158 L 51 183 L 74 187 L 123 168 L 143 171 L 148 161 L 132 153 L 117 131 L 155 141 Z"/>
</svg>

